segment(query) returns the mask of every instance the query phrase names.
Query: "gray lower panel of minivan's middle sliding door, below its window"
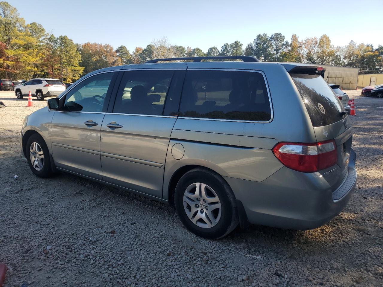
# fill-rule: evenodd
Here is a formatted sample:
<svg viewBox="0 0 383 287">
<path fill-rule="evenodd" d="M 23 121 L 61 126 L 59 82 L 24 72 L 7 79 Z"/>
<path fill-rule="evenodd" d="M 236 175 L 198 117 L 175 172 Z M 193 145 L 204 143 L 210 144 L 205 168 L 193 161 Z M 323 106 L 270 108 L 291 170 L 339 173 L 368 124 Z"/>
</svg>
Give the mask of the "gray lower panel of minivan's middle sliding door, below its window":
<svg viewBox="0 0 383 287">
<path fill-rule="evenodd" d="M 101 128 L 103 180 L 162 197 L 170 134 L 176 118 L 106 114 Z M 120 124 L 110 129 L 110 122 Z"/>
</svg>

